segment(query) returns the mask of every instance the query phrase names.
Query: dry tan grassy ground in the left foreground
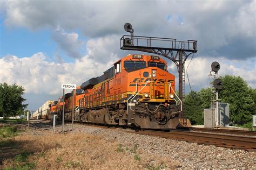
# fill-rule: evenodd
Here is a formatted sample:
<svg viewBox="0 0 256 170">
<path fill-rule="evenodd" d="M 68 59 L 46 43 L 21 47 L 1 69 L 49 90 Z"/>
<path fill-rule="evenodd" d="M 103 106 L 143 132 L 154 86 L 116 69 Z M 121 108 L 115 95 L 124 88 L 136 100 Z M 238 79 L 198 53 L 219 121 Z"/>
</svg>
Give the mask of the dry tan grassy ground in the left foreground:
<svg viewBox="0 0 256 170">
<path fill-rule="evenodd" d="M 0 140 L 0 168 L 6 169 L 173 169 L 180 163 L 147 154 L 136 145 L 88 133 L 55 133 L 48 123 L 17 125 L 16 137 Z M 35 126 L 41 128 L 33 128 Z"/>
</svg>

